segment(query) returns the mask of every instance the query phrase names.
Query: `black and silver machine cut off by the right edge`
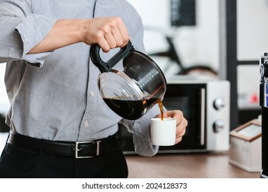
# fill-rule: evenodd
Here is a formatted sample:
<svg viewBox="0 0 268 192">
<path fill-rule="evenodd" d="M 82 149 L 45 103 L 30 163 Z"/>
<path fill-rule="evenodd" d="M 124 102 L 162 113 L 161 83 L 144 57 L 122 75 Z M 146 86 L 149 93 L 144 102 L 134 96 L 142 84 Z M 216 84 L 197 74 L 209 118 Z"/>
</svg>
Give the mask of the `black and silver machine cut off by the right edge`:
<svg viewBox="0 0 268 192">
<path fill-rule="evenodd" d="M 260 57 L 260 107 L 262 108 L 262 170 L 268 178 L 268 53 Z"/>
</svg>

